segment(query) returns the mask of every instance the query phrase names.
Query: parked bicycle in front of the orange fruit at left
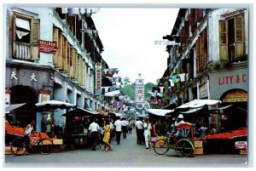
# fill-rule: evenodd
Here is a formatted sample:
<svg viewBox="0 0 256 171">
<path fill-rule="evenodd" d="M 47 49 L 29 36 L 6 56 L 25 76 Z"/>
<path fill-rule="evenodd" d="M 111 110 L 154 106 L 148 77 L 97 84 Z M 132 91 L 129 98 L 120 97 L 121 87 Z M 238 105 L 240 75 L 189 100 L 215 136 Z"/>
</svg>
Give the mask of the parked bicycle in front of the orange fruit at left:
<svg viewBox="0 0 256 171">
<path fill-rule="evenodd" d="M 15 156 L 22 156 L 27 152 L 34 152 L 38 147 L 41 154 L 47 155 L 53 150 L 53 142 L 50 139 L 42 138 L 39 134 L 38 140 L 30 140 L 28 147 L 26 147 L 25 136 L 19 136 L 10 142 L 10 149 Z"/>
</svg>

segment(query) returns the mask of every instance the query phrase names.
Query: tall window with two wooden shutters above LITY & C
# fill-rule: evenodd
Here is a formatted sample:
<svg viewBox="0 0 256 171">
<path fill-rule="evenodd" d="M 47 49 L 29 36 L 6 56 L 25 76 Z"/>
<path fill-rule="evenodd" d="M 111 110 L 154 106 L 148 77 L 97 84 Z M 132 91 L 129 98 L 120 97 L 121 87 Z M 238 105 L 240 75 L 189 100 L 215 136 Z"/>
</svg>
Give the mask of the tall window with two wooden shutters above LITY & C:
<svg viewBox="0 0 256 171">
<path fill-rule="evenodd" d="M 236 61 L 245 56 L 243 15 L 219 20 L 220 60 Z"/>
</svg>

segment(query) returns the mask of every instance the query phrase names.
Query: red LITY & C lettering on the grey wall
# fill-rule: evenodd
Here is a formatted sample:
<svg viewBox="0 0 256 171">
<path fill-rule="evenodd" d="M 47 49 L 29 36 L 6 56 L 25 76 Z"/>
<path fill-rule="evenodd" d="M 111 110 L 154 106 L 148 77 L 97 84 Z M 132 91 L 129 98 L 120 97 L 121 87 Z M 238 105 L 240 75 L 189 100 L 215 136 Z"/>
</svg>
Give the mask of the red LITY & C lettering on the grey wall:
<svg viewBox="0 0 256 171">
<path fill-rule="evenodd" d="M 235 83 L 246 83 L 247 75 L 246 74 L 237 74 L 236 76 L 223 76 L 218 77 L 218 85 L 229 85 Z"/>
</svg>

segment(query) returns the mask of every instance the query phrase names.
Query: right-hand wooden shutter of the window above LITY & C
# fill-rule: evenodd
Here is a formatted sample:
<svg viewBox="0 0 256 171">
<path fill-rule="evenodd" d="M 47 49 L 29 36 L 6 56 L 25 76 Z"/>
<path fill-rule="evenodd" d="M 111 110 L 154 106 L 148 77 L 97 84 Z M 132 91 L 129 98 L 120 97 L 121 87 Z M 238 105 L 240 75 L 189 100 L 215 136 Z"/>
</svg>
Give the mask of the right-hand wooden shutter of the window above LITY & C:
<svg viewBox="0 0 256 171">
<path fill-rule="evenodd" d="M 244 55 L 244 31 L 242 15 L 235 17 L 235 58 Z"/>
</svg>

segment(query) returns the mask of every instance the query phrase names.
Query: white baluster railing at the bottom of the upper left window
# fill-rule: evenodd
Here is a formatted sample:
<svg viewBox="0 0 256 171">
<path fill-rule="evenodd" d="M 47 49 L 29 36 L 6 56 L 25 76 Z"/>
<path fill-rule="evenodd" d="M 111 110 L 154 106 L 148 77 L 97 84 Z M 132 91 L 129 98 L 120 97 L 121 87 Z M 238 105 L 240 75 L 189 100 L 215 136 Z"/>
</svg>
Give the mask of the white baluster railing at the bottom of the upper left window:
<svg viewBox="0 0 256 171">
<path fill-rule="evenodd" d="M 15 43 L 15 58 L 20 60 L 30 60 L 30 44 L 28 43 Z"/>
</svg>

